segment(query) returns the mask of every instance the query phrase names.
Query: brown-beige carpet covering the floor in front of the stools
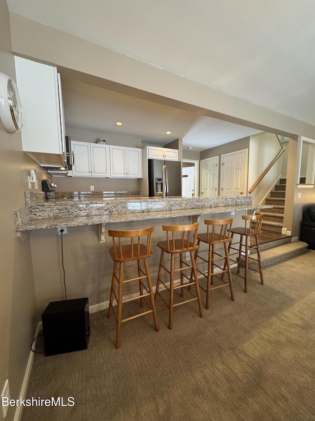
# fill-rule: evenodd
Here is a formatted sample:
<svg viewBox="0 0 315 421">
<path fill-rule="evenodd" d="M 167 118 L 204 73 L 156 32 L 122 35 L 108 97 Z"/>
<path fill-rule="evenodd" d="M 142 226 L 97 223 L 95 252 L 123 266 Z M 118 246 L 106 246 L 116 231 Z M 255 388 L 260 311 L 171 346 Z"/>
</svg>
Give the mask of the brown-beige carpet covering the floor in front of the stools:
<svg viewBox="0 0 315 421">
<path fill-rule="evenodd" d="M 158 302 L 116 325 L 91 315 L 84 351 L 35 354 L 27 397 L 73 396 L 73 407 L 25 408 L 22 421 L 315 420 L 315 252 L 215 290 L 204 318 L 196 302 L 176 307 L 173 329 Z M 205 294 L 202 293 L 203 304 Z M 39 346 L 39 344 L 38 344 Z"/>
</svg>

